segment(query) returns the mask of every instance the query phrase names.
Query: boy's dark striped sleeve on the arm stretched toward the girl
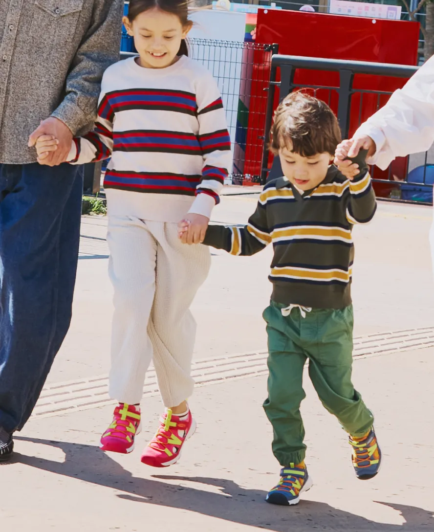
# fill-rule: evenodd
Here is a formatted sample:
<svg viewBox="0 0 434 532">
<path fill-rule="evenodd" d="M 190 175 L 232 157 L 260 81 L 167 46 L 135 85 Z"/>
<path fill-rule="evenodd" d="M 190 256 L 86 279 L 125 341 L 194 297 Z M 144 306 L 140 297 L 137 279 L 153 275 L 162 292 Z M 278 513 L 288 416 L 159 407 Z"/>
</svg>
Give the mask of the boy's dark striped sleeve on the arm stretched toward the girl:
<svg viewBox="0 0 434 532">
<path fill-rule="evenodd" d="M 231 255 L 246 256 L 262 251 L 270 242 L 266 206 L 259 202 L 246 226 L 208 226 L 203 243 Z"/>
</svg>

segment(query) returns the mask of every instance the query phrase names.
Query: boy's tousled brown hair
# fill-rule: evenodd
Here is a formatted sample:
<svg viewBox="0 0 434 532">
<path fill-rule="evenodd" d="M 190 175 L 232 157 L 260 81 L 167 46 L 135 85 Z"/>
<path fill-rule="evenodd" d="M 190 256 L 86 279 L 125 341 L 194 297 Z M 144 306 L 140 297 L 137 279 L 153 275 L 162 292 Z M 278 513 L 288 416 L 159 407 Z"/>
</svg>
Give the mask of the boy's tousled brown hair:
<svg viewBox="0 0 434 532">
<path fill-rule="evenodd" d="M 292 145 L 288 146 L 288 140 Z M 273 155 L 278 155 L 283 147 L 303 157 L 326 152 L 333 155 L 340 142 L 338 120 L 318 98 L 302 92 L 291 93 L 274 113 L 269 145 Z"/>
</svg>

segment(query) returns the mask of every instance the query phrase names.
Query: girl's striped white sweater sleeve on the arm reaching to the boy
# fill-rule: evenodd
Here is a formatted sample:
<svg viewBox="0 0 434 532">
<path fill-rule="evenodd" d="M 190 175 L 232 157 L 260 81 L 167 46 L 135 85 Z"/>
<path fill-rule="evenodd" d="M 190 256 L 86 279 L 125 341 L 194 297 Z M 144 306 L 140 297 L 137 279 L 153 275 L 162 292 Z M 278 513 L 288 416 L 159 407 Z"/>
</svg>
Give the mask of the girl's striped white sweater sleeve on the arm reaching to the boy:
<svg viewBox="0 0 434 532">
<path fill-rule="evenodd" d="M 196 200 L 189 212 L 210 218 L 214 205 L 220 202 L 220 192 L 232 165 L 226 113 L 220 90 L 210 72 L 197 82 L 196 102 L 203 167 Z"/>
</svg>

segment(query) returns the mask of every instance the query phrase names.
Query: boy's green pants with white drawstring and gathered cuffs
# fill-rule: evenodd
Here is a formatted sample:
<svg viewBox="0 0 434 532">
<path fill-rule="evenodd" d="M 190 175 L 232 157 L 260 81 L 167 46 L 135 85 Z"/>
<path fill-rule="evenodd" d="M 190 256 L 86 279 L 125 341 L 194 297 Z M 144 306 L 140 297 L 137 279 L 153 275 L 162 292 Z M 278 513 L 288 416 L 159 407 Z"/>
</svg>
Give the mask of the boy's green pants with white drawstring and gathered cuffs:
<svg viewBox="0 0 434 532">
<path fill-rule="evenodd" d="M 303 367 L 324 407 L 352 436 L 363 436 L 373 424 L 372 413 L 351 382 L 353 307 L 312 309 L 302 317 L 295 307 L 271 302 L 264 311 L 268 333 L 268 398 L 264 410 L 273 426 L 272 449 L 282 467 L 304 460 L 306 445 L 300 404 L 305 398 Z"/>
</svg>

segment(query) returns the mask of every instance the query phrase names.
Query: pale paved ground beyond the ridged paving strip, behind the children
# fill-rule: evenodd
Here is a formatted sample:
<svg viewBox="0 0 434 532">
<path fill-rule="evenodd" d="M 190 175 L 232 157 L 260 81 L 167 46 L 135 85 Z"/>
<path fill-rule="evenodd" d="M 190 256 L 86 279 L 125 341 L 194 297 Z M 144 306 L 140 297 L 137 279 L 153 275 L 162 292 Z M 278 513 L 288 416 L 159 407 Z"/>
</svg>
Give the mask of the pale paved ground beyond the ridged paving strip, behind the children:
<svg viewBox="0 0 434 532">
<path fill-rule="evenodd" d="M 214 221 L 245 223 L 256 201 L 223 197 Z M 430 223 L 430 207 L 380 203 L 373 222 L 354 229 L 356 335 L 433 325 Z M 72 326 L 49 383 L 107 372 L 112 288 L 105 233 L 105 219 L 83 219 Z M 271 248 L 253 257 L 212 253 L 210 276 L 193 306 L 199 331 L 195 358 L 265 350 L 261 315 L 271 293 Z"/>
</svg>

